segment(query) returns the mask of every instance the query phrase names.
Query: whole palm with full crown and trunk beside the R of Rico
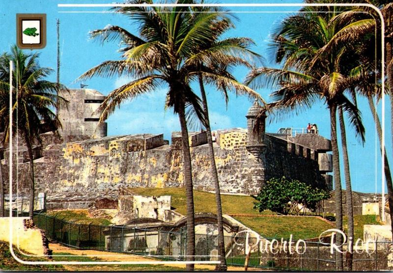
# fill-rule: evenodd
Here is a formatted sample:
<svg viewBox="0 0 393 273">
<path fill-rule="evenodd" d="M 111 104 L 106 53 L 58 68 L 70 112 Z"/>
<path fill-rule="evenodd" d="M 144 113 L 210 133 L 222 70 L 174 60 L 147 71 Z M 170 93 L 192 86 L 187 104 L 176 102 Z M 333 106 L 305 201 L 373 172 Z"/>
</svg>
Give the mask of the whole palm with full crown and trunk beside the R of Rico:
<svg viewBox="0 0 393 273">
<path fill-rule="evenodd" d="M 253 88 L 267 84 L 279 89 L 272 93 L 277 100 L 272 103 L 284 112 L 303 110 L 315 100 L 323 98 L 330 112 L 331 142 L 333 150 L 333 171 L 335 181 L 336 227 L 342 230 L 342 197 L 337 146 L 337 107 L 343 107 L 349 115 L 357 135 L 364 142 L 364 127 L 356 105 L 344 92 L 355 85 L 356 78 L 349 73 L 356 64 L 346 48 L 335 47 L 329 54 L 319 54 L 339 30 L 338 24 L 329 24 L 337 12 L 336 8 L 325 10 L 331 13 L 317 13 L 306 7 L 299 15 L 285 19 L 276 31 L 273 44 L 276 61 L 283 61 L 282 69 L 258 68 L 247 77 L 246 83 Z M 355 59 L 356 60 L 356 59 Z M 337 237 L 337 245 L 342 238 Z M 342 270 L 342 254 L 336 253 L 337 270 Z"/>
</svg>

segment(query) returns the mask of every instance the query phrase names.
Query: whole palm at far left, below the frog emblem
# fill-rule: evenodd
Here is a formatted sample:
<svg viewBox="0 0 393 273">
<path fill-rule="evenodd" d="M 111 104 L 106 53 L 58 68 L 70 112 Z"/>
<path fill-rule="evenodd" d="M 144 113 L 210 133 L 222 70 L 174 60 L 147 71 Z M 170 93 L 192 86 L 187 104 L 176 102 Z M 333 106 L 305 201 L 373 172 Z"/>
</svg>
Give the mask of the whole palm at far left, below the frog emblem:
<svg viewBox="0 0 393 273">
<path fill-rule="evenodd" d="M 34 162 L 33 145 L 40 144 L 40 128 L 44 123 L 53 133 L 58 135 L 57 128 L 61 126 L 60 121 L 52 109 L 56 108 L 56 100 L 65 101 L 57 96 L 57 92 L 64 89 L 61 84 L 44 80 L 53 70 L 41 68 L 38 65 L 38 53 L 25 53 L 18 47 L 13 46 L 11 53 L 0 56 L 0 115 L 4 124 L 4 136 L 2 143 L 9 139 L 9 91 L 10 77 L 14 86 L 12 96 L 13 128 L 19 134 L 28 150 L 29 160 L 29 211 L 30 218 L 34 211 Z M 14 73 L 9 74 L 9 64 L 15 65 Z"/>
</svg>

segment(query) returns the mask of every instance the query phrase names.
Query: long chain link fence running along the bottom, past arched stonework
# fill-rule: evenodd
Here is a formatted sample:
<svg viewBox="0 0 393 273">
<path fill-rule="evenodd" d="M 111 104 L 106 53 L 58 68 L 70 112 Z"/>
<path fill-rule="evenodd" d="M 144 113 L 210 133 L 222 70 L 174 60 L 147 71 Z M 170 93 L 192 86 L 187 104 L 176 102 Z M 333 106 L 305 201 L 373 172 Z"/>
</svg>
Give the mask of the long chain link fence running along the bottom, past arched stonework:
<svg viewBox="0 0 393 273">
<path fill-rule="evenodd" d="M 186 228 L 165 230 L 128 226 L 79 224 L 41 213 L 34 213 L 34 223 L 45 230 L 46 236 L 72 248 L 151 255 L 167 260 L 185 260 Z M 253 246 L 249 266 L 287 271 L 335 271 L 335 253 L 330 246 L 320 242 L 306 241 L 295 246 L 285 245 L 281 238 L 265 238 L 275 242 L 270 249 L 261 247 L 256 238 L 225 236 L 225 257 L 228 265 L 244 266 L 246 240 Z M 275 241 L 274 241 L 275 240 Z M 375 242 L 361 253 L 353 254 L 354 271 L 379 271 L 388 269 L 388 253 L 391 242 Z M 344 247 L 345 248 L 345 247 Z M 196 234 L 196 260 L 218 259 L 218 236 Z M 298 252 L 296 251 L 298 250 Z M 368 252 L 368 253 L 367 253 Z M 300 254 L 301 253 L 301 254 Z M 345 254 L 343 254 L 345 260 Z"/>
</svg>

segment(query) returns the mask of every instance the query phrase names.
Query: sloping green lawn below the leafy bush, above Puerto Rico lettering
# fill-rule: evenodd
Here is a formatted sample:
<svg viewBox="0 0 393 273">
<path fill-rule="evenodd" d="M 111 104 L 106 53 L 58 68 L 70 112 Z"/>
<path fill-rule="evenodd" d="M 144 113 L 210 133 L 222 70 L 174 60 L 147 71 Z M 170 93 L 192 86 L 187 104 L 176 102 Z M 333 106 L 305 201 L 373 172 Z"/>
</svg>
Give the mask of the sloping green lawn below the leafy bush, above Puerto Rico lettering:
<svg viewBox="0 0 393 273">
<path fill-rule="evenodd" d="M 333 226 L 316 217 L 310 216 L 256 216 L 235 217 L 266 238 L 309 239 L 318 237 L 323 231 Z"/>
</svg>

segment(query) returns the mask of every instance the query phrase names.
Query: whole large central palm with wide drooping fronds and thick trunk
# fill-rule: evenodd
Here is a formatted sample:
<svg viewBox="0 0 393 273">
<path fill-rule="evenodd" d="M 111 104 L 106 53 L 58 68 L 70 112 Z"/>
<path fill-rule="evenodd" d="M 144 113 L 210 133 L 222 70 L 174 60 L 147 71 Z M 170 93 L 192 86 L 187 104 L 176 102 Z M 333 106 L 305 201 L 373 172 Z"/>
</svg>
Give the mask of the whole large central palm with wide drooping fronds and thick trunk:
<svg viewBox="0 0 393 273">
<path fill-rule="evenodd" d="M 176 3 L 192 2 L 191 0 L 179 0 Z M 134 0 L 130 3 L 152 3 L 152 1 Z M 80 78 L 122 74 L 135 78 L 108 95 L 100 106 L 103 111 L 100 121 L 104 121 L 126 99 L 133 99 L 140 94 L 155 90 L 159 85 L 168 86 L 166 106 L 173 108 L 174 113 L 179 117 L 181 126 L 183 172 L 187 198 L 186 255 L 187 261 L 193 261 L 195 255 L 194 199 L 186 111 L 194 111 L 202 121 L 205 117 L 200 99 L 190 87 L 190 83 L 201 75 L 204 80 L 219 88 L 232 86 L 240 93 L 247 92 L 260 97 L 230 75 L 200 65 L 200 58 L 214 56 L 213 53 L 209 53 L 211 48 L 207 47 L 211 44 L 210 26 L 223 18 L 222 13 L 192 14 L 188 7 L 180 6 L 170 8 L 132 6 L 115 8 L 115 10 L 125 13 L 140 25 L 139 35 L 131 34 L 126 29 L 114 25 L 92 31 L 91 37 L 99 38 L 102 42 L 121 41 L 125 46 L 120 50 L 123 52 L 122 60 L 105 61 L 81 75 Z M 197 55 L 196 52 L 201 49 L 204 53 Z M 187 270 L 193 269 L 193 264 L 187 265 Z"/>
</svg>

